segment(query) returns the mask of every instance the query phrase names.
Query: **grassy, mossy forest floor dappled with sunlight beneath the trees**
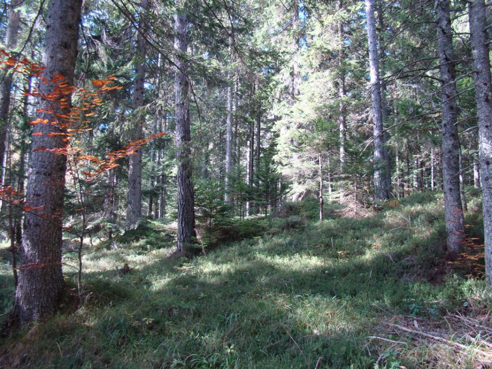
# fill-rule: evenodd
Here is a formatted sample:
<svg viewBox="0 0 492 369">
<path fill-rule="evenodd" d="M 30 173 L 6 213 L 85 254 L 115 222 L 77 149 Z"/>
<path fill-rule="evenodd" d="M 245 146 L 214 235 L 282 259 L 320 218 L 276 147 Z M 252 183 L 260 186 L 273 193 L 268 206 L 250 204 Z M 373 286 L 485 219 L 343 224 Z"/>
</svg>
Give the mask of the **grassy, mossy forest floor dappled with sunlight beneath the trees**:
<svg viewBox="0 0 492 369">
<path fill-rule="evenodd" d="M 63 311 L 2 338 L 0 367 L 486 367 L 492 297 L 475 247 L 479 203 L 470 196 L 469 253 L 455 264 L 443 252 L 439 192 L 362 217 L 328 204 L 323 221 L 308 199 L 282 218 L 243 221 L 261 232 L 193 259 L 173 251 L 169 223 L 150 221 L 85 250 L 81 306 L 66 251 Z M 12 279 L 7 247 L 0 253 L 6 312 Z"/>
</svg>

